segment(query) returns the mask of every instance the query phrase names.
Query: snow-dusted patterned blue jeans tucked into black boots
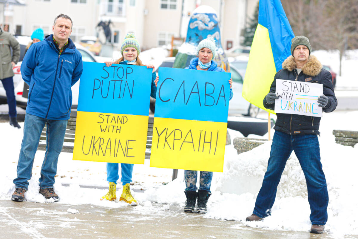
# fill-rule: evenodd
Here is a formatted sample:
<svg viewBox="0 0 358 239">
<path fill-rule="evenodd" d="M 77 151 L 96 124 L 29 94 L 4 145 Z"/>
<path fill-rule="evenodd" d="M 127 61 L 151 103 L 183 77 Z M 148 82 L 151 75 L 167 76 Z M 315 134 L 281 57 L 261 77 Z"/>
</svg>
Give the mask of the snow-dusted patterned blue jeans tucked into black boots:
<svg viewBox="0 0 358 239">
<path fill-rule="evenodd" d="M 184 170 L 185 184 L 187 188 L 185 191 L 197 191 L 198 171 Z M 213 172 L 200 171 L 199 190 L 210 191 L 211 180 L 213 179 Z"/>
</svg>

